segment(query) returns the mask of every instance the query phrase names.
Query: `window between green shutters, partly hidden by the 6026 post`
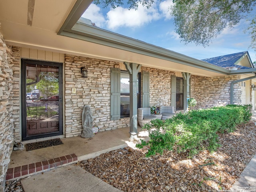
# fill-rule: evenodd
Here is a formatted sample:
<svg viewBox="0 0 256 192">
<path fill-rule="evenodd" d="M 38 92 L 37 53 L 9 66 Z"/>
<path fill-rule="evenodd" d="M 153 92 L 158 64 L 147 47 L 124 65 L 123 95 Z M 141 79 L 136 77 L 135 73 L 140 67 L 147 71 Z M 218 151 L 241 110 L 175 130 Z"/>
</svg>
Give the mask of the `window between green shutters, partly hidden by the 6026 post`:
<svg viewBox="0 0 256 192">
<path fill-rule="evenodd" d="M 127 71 L 120 73 L 120 115 L 130 116 L 130 75 Z M 137 107 L 140 107 L 140 73 L 137 75 Z"/>
</svg>

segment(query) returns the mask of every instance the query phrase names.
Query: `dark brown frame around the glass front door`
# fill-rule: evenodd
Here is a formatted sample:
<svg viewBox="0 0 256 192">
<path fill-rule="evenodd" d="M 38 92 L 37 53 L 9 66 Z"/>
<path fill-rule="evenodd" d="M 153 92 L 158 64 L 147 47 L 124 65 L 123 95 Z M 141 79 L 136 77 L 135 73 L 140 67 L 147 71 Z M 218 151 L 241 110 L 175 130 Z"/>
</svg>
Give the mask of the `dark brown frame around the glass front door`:
<svg viewBox="0 0 256 192">
<path fill-rule="evenodd" d="M 59 67 L 59 131 L 53 133 L 45 133 L 40 135 L 28 136 L 27 134 L 27 123 L 26 123 L 26 65 L 48 65 Z M 30 59 L 21 59 L 21 113 L 22 113 L 22 141 L 39 139 L 44 137 L 52 137 L 57 135 L 63 135 L 63 105 L 62 105 L 62 65 L 63 63 L 49 62 L 49 61 L 38 61 Z"/>
</svg>

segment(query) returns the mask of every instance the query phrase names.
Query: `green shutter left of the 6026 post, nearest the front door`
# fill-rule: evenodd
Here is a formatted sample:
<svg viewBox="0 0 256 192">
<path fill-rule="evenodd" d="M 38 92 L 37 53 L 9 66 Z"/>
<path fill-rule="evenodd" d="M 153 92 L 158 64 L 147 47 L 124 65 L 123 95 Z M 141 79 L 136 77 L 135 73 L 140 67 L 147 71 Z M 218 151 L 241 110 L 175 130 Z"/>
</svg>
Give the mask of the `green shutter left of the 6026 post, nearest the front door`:
<svg viewBox="0 0 256 192">
<path fill-rule="evenodd" d="M 120 69 L 110 69 L 110 120 L 120 119 Z"/>
</svg>

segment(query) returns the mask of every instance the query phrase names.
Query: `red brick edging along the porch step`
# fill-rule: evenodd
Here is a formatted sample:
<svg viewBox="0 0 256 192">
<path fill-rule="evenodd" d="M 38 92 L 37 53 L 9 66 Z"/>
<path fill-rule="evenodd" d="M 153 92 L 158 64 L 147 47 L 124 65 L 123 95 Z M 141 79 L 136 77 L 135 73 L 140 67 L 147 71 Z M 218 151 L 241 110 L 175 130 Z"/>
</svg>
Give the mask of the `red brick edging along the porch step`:
<svg viewBox="0 0 256 192">
<path fill-rule="evenodd" d="M 73 153 L 53 159 L 8 168 L 6 172 L 6 180 L 18 178 L 21 176 L 25 177 L 29 174 L 35 174 L 36 172 L 42 172 L 45 170 L 49 170 L 50 168 L 56 168 L 57 166 L 69 164 L 76 161 L 78 161 L 78 157 L 76 156 L 76 154 Z"/>
</svg>

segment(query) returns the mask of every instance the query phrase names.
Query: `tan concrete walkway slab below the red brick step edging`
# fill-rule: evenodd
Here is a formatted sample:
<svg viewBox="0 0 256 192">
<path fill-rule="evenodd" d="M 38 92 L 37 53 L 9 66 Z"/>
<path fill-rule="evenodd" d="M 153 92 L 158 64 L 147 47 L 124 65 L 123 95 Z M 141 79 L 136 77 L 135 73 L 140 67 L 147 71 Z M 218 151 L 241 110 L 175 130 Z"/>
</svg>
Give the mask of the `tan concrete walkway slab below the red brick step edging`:
<svg viewBox="0 0 256 192">
<path fill-rule="evenodd" d="M 122 192 L 76 165 L 29 176 L 21 184 L 24 192 Z"/>
</svg>

